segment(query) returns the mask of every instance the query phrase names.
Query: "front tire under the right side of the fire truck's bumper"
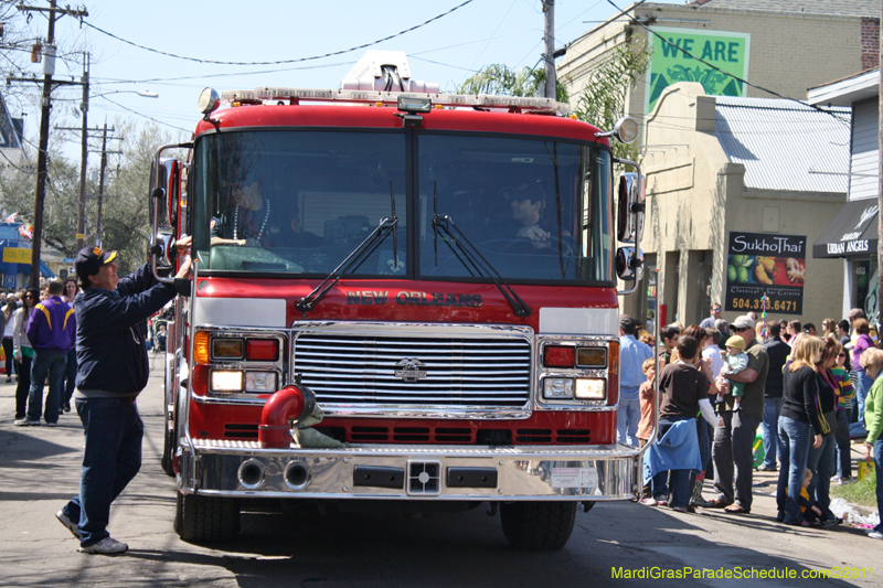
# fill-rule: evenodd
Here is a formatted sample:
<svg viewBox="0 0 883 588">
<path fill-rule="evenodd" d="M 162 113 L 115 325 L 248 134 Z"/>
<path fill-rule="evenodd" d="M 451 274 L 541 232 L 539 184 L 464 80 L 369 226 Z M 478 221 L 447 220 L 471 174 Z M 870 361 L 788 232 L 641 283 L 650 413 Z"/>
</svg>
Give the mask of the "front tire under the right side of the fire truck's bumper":
<svg viewBox="0 0 883 588">
<path fill-rule="evenodd" d="M 503 535 L 519 549 L 561 549 L 573 533 L 576 506 L 576 502 L 502 503 Z"/>
</svg>

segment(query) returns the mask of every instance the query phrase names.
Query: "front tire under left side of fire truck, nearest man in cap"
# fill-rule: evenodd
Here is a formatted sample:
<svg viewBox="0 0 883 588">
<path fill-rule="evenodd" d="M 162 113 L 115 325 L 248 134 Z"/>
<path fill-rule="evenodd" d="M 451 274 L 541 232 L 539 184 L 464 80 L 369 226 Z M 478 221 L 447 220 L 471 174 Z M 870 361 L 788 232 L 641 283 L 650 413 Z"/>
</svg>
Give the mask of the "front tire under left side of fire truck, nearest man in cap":
<svg viewBox="0 0 883 588">
<path fill-rule="evenodd" d="M 178 493 L 174 532 L 183 541 L 233 541 L 240 534 L 240 504 L 236 499 Z"/>
</svg>

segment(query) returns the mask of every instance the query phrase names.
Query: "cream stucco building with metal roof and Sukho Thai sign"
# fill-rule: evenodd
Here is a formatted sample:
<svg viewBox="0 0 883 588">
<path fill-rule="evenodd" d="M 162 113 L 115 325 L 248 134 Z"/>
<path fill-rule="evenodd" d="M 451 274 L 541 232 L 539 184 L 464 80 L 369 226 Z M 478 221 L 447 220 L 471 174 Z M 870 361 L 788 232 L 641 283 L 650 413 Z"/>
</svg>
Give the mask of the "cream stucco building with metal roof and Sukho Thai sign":
<svg viewBox="0 0 883 588">
<path fill-rule="evenodd" d="M 842 267 L 808 255 L 847 199 L 849 108 L 666 88 L 647 119 L 647 275 L 625 308 L 690 324 L 841 316 Z M 653 271 L 658 268 L 659 271 Z"/>
</svg>

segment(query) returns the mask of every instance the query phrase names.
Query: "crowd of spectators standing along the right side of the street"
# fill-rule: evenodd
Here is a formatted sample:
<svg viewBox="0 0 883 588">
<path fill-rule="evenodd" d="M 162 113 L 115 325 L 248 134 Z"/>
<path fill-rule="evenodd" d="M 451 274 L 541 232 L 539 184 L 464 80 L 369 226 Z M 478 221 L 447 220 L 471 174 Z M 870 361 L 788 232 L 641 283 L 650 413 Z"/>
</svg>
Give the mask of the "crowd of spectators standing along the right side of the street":
<svg viewBox="0 0 883 588">
<path fill-rule="evenodd" d="M 778 472 L 780 523 L 842 523 L 831 512 L 830 487 L 854 483 L 852 443 L 863 445 L 863 459 L 876 471 L 883 468 L 883 350 L 860 309 L 841 321 L 825 319 L 819 333 L 812 323 L 758 321 L 754 313 L 728 324 L 713 304 L 701 324 L 661 327 L 655 343 L 635 319 L 620 318 L 620 349 L 628 355 L 620 377 L 630 386 L 642 381 L 637 434 L 627 428 L 618 442 L 650 445 L 643 504 L 749 513 L 758 429 L 763 462 L 756 470 Z M 620 421 L 630 424 L 630 408 Z M 706 471 L 714 475 L 712 500 L 702 495 Z M 879 483 L 876 498 L 880 509 Z M 883 538 L 883 526 L 869 536 Z"/>
</svg>

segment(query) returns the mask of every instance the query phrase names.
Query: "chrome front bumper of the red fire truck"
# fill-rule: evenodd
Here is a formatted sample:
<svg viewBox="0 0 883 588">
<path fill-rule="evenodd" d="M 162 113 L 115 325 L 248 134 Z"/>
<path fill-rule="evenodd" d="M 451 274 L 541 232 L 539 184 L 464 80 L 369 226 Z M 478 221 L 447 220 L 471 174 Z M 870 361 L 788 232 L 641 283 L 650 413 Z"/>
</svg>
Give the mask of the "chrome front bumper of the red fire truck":
<svg viewBox="0 0 883 588">
<path fill-rule="evenodd" d="M 632 498 L 640 472 L 638 451 L 619 445 L 265 449 L 256 441 L 191 443 L 179 449 L 180 490 L 220 496 L 610 501 Z"/>
</svg>

